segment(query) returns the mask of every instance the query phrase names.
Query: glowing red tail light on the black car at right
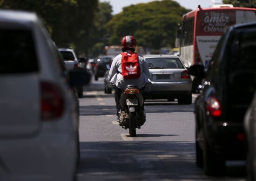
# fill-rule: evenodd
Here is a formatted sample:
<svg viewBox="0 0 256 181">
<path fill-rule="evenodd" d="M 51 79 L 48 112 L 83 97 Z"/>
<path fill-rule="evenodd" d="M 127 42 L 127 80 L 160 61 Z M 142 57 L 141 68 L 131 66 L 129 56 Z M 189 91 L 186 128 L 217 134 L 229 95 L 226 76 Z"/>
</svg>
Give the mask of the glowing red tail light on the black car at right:
<svg viewBox="0 0 256 181">
<path fill-rule="evenodd" d="M 216 97 L 210 97 L 207 101 L 207 110 L 213 117 L 220 117 L 222 115 L 221 104 Z"/>
</svg>

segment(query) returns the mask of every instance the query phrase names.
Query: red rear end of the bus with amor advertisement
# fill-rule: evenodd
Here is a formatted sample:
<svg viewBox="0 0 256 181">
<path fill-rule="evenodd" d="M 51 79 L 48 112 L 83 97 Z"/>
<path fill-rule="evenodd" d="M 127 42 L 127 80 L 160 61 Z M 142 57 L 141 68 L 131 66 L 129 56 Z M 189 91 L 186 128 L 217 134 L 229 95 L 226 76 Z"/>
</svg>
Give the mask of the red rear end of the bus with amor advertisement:
<svg viewBox="0 0 256 181">
<path fill-rule="evenodd" d="M 195 13 L 194 60 L 206 69 L 222 34 L 229 26 L 256 21 L 255 8 L 219 7 L 198 8 Z"/>
</svg>

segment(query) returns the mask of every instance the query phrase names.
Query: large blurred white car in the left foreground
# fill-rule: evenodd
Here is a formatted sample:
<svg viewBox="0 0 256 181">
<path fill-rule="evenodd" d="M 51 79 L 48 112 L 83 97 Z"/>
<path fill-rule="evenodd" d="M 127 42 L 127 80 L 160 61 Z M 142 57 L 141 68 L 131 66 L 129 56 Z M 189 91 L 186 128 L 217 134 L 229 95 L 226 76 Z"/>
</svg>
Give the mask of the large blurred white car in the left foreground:
<svg viewBox="0 0 256 181">
<path fill-rule="evenodd" d="M 73 181 L 79 115 L 58 49 L 34 13 L 0 10 L 0 39 L 0 181 Z"/>
</svg>

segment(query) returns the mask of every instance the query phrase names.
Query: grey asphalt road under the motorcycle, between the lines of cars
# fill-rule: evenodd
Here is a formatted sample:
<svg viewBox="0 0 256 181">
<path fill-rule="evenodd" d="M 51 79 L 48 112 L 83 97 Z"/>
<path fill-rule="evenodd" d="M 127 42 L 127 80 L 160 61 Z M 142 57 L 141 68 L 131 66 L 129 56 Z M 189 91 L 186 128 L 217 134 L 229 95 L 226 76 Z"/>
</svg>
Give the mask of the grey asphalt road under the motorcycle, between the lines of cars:
<svg viewBox="0 0 256 181">
<path fill-rule="evenodd" d="M 147 121 L 129 137 L 116 122 L 114 95 L 103 88 L 99 78 L 80 99 L 78 181 L 245 180 L 245 162 L 227 162 L 225 177 L 207 177 L 196 167 L 194 104 L 146 101 Z"/>
</svg>

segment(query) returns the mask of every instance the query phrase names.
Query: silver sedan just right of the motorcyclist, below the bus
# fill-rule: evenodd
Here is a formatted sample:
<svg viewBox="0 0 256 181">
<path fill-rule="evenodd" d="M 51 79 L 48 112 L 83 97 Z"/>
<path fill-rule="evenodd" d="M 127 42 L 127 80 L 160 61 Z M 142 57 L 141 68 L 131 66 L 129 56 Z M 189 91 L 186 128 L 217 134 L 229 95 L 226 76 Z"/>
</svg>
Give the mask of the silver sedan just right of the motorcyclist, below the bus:
<svg viewBox="0 0 256 181">
<path fill-rule="evenodd" d="M 192 80 L 180 57 L 175 55 L 146 55 L 152 88 L 145 99 L 178 99 L 179 104 L 191 104 Z"/>
</svg>

